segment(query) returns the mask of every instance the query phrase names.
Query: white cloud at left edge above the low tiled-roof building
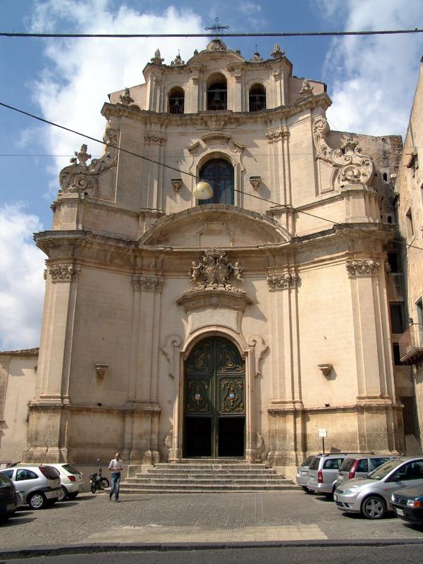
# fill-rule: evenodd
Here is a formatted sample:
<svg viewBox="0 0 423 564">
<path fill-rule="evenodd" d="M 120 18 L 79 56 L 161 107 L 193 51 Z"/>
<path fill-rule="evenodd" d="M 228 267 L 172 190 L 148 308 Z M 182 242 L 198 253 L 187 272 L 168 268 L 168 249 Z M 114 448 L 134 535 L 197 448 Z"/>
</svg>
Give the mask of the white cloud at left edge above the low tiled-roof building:
<svg viewBox="0 0 423 564">
<path fill-rule="evenodd" d="M 45 255 L 32 243 L 39 230 L 23 204 L 0 207 L 0 350 L 39 345 Z"/>
</svg>

